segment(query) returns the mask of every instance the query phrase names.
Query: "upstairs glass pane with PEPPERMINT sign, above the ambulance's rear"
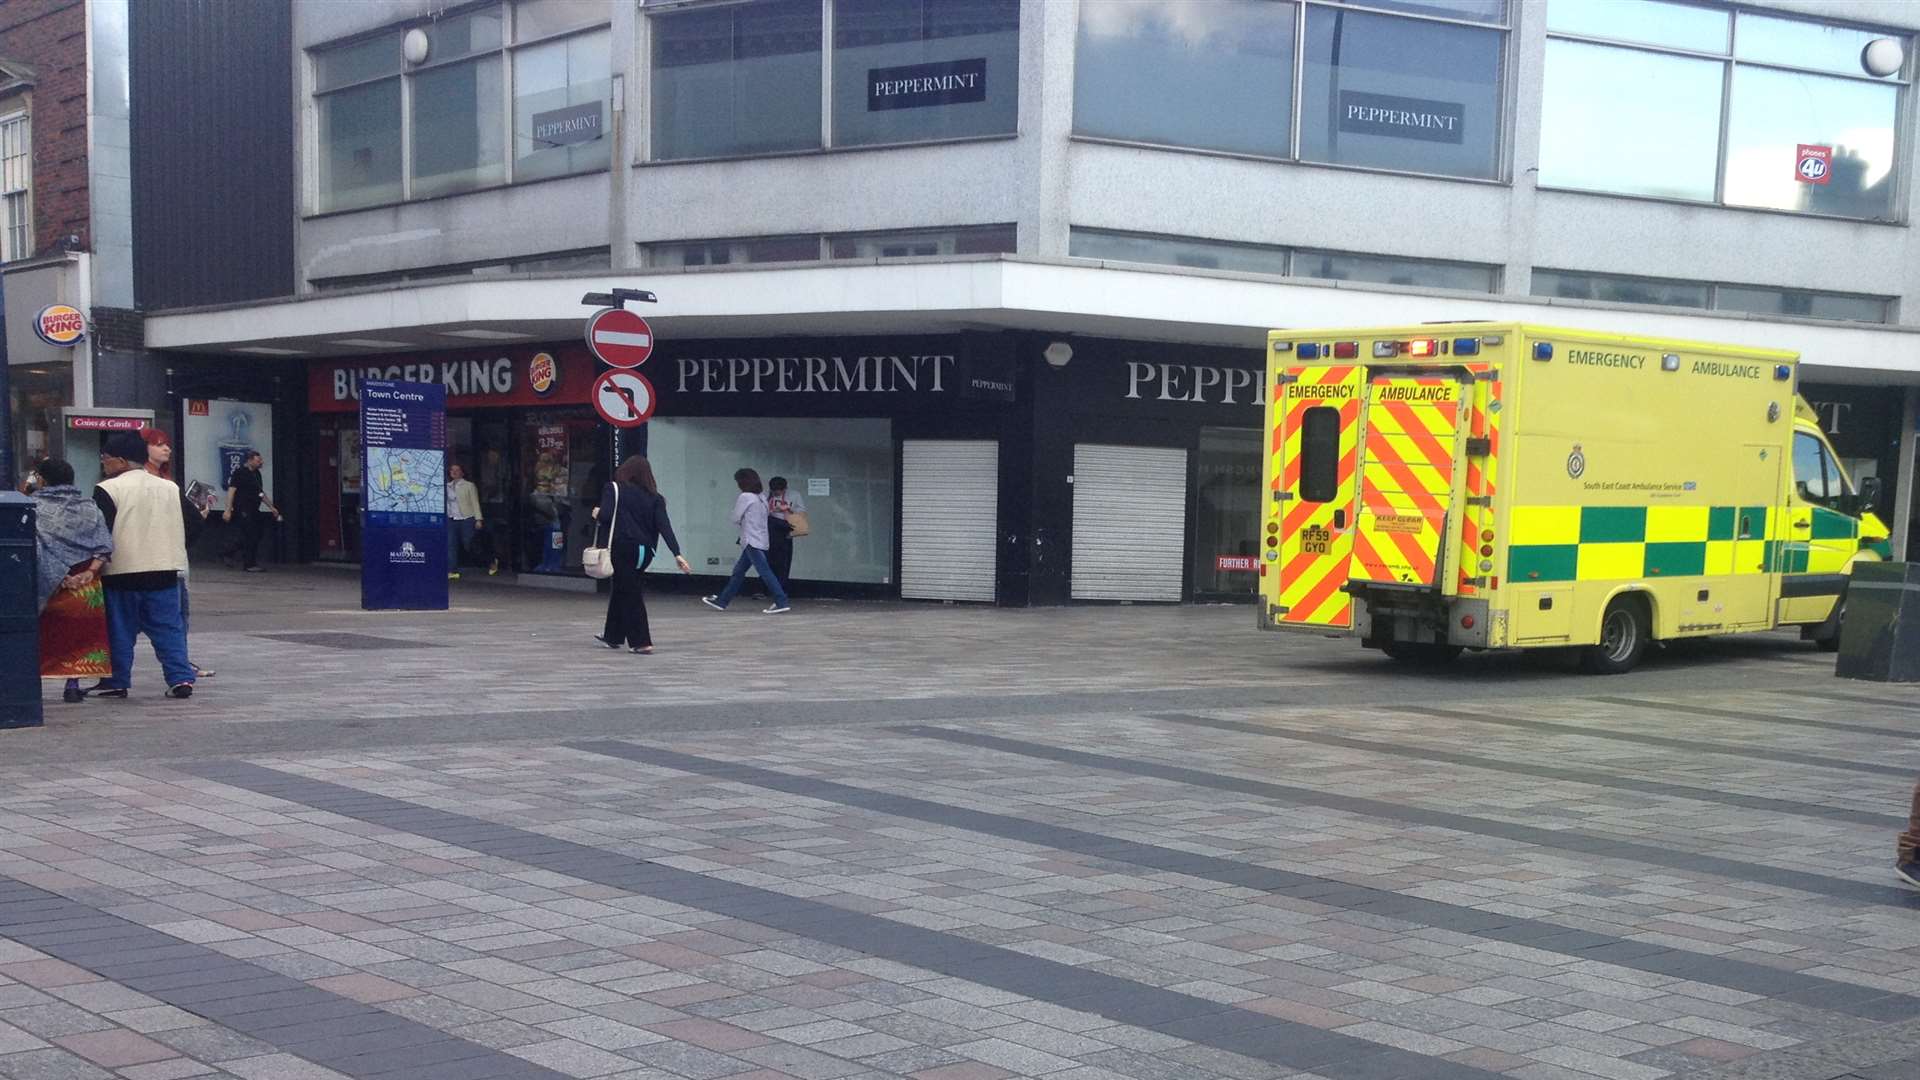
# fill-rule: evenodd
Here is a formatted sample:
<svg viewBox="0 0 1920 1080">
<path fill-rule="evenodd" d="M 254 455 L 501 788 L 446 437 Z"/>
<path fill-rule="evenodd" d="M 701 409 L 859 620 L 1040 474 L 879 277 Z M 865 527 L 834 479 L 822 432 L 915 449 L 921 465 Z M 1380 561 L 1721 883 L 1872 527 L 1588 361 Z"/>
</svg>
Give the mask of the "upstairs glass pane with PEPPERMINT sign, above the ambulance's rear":
<svg viewBox="0 0 1920 1080">
<path fill-rule="evenodd" d="M 1300 158 L 1409 173 L 1500 173 L 1505 35 L 1308 8 Z"/>
</svg>

